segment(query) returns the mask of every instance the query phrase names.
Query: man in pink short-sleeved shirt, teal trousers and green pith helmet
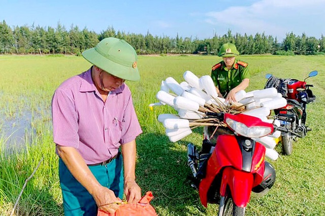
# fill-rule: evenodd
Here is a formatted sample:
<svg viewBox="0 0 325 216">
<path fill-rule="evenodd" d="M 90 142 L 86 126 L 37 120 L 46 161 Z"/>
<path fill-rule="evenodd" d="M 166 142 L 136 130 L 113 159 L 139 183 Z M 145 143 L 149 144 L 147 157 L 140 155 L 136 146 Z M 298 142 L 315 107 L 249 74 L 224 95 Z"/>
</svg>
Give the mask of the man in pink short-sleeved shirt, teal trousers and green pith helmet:
<svg viewBox="0 0 325 216">
<path fill-rule="evenodd" d="M 142 130 L 124 83 L 140 79 L 137 53 L 124 40 L 105 38 L 82 55 L 90 69 L 64 81 L 52 99 L 64 214 L 114 213 L 123 192 L 129 203 L 141 198 L 135 140 Z"/>
</svg>

